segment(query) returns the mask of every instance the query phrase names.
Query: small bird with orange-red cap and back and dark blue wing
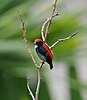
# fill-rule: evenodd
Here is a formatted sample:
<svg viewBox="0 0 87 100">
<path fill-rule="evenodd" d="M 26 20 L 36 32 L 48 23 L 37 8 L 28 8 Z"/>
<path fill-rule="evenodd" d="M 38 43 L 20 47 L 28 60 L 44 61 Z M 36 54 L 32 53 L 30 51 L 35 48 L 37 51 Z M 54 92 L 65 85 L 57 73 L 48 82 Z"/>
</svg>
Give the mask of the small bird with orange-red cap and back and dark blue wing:
<svg viewBox="0 0 87 100">
<path fill-rule="evenodd" d="M 50 69 L 53 68 L 52 60 L 53 54 L 49 46 L 42 39 L 34 40 L 36 53 L 43 62 L 47 62 L 50 65 Z"/>
</svg>

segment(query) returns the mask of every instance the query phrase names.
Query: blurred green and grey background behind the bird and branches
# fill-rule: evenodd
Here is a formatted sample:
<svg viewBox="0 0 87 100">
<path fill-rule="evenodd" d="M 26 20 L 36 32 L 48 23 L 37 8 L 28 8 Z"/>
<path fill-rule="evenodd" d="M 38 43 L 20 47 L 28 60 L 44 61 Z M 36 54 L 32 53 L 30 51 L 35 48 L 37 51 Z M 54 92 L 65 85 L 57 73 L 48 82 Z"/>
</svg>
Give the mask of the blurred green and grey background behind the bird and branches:
<svg viewBox="0 0 87 100">
<path fill-rule="evenodd" d="M 29 46 L 38 59 L 33 41 L 40 38 L 41 26 L 50 16 L 54 0 L 0 0 L 0 100 L 32 100 L 37 69 L 22 37 L 19 9 L 25 22 Z M 47 37 L 52 45 L 78 30 L 78 34 L 55 46 L 54 68 L 46 64 L 41 72 L 39 100 L 87 100 L 87 0 L 58 0 L 60 16 L 54 18 Z"/>
</svg>

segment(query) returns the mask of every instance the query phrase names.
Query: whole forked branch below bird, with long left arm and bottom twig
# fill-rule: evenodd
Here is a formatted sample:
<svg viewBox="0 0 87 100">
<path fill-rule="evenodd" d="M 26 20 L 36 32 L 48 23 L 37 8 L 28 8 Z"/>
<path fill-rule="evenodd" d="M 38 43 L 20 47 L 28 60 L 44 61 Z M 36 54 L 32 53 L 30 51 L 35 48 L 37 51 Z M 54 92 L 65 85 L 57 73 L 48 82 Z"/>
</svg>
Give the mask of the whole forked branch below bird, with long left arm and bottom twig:
<svg viewBox="0 0 87 100">
<path fill-rule="evenodd" d="M 38 68 L 38 83 L 37 83 L 37 89 L 36 89 L 35 98 L 34 98 L 34 95 L 33 95 L 32 91 L 31 91 L 31 89 L 30 89 L 30 86 L 29 86 L 29 79 L 27 80 L 27 88 L 28 88 L 28 91 L 29 91 L 29 93 L 30 93 L 32 99 L 33 99 L 33 100 L 38 100 L 39 89 L 40 89 L 40 77 L 41 77 L 41 76 L 40 76 L 40 72 L 41 72 L 41 68 L 42 68 L 44 62 L 41 62 L 40 65 L 37 65 L 36 60 L 35 60 L 34 56 L 33 56 L 32 53 L 31 53 L 31 49 L 30 49 L 30 47 L 28 46 L 28 41 L 27 41 L 27 39 L 26 39 L 26 30 L 25 30 L 25 27 L 24 27 L 24 21 L 23 21 L 23 19 L 22 19 L 22 17 L 21 17 L 21 14 L 20 14 L 20 11 L 19 11 L 18 9 L 17 9 L 17 12 L 18 12 L 18 14 L 19 14 L 19 16 L 20 16 L 20 20 L 21 20 L 21 23 L 22 23 L 22 31 L 23 31 L 24 42 L 25 42 L 25 44 L 26 44 L 26 49 L 27 49 L 27 51 L 29 52 L 29 54 L 30 54 L 30 56 L 31 56 L 31 59 L 32 59 L 32 61 L 34 62 L 35 66 Z"/>
</svg>

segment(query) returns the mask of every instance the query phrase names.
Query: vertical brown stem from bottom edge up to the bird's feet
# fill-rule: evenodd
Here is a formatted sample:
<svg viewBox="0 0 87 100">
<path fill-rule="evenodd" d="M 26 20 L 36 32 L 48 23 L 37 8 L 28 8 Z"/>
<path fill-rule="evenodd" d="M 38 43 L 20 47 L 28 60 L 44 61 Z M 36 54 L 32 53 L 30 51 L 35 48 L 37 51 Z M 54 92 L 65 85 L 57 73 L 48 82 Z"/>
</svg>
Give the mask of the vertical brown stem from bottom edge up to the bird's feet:
<svg viewBox="0 0 87 100">
<path fill-rule="evenodd" d="M 36 95 L 35 95 L 35 100 L 38 100 L 38 96 L 39 96 L 39 90 L 40 90 L 40 83 L 41 83 L 41 68 L 43 66 L 44 62 L 42 62 L 40 64 L 40 67 L 38 68 L 38 83 L 37 83 L 37 88 L 36 88 Z"/>
</svg>

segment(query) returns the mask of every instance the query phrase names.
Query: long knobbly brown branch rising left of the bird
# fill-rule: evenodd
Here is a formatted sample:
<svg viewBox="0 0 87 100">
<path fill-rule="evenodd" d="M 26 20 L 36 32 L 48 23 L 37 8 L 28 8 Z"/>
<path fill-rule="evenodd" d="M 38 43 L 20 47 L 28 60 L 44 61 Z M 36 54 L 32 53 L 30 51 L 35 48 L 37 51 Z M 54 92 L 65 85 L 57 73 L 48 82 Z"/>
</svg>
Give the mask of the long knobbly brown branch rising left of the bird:
<svg viewBox="0 0 87 100">
<path fill-rule="evenodd" d="M 23 19 L 22 19 L 22 17 L 21 17 L 21 14 L 20 14 L 20 11 L 19 11 L 18 9 L 17 9 L 17 12 L 18 12 L 18 14 L 19 14 L 19 17 L 20 17 L 20 20 L 21 20 L 21 23 L 22 23 L 22 31 L 23 31 L 23 37 L 24 37 L 24 42 L 25 42 L 25 45 L 26 45 L 26 49 L 27 49 L 28 53 L 30 54 L 31 59 L 32 59 L 32 61 L 34 62 L 35 66 L 38 68 L 38 65 L 37 65 L 37 63 L 36 63 L 36 60 L 35 60 L 35 58 L 34 58 L 32 52 L 31 52 L 31 49 L 30 49 L 30 47 L 29 47 L 29 45 L 28 45 L 28 41 L 27 41 L 27 39 L 26 39 L 26 29 L 25 29 L 25 27 L 24 27 L 24 21 L 23 21 Z"/>
</svg>

